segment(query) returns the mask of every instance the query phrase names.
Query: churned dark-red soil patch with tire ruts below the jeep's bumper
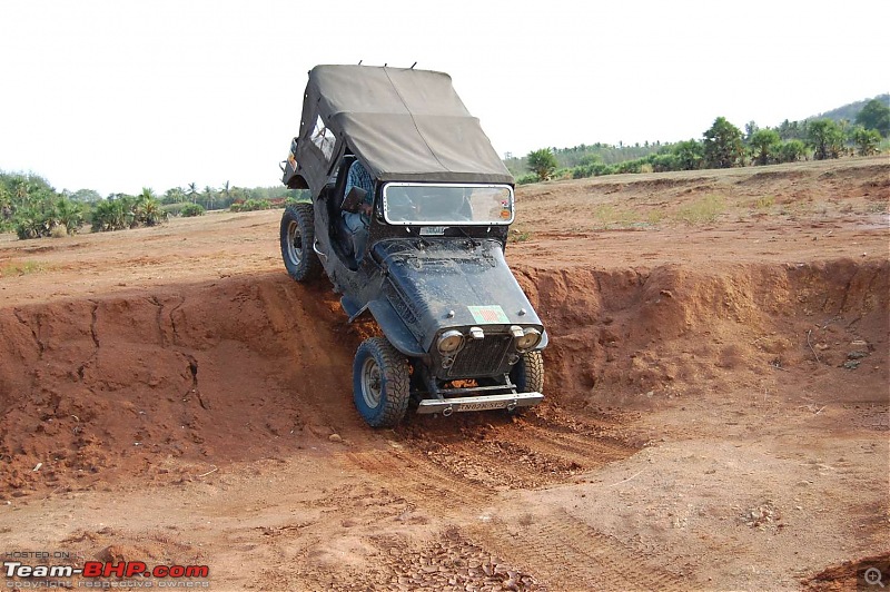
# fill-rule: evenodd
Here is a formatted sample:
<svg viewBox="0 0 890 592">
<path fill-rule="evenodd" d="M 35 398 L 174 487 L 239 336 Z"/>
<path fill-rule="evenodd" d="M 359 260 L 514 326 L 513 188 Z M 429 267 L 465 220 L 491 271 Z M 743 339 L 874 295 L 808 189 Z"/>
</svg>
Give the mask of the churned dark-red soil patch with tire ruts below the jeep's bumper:
<svg viewBox="0 0 890 592">
<path fill-rule="evenodd" d="M 387 441 L 389 448 L 380 447 L 373 434 L 355 434 L 372 450 L 338 457 L 384 482 L 398 480 L 398 487 L 422 499 L 443 491 L 459 494 L 464 503 L 468 493 L 483 502 L 500 491 L 564 483 L 643 447 L 614 426 L 555 426 L 538 416 L 511 421 L 478 415 L 436 425 L 411 418 Z"/>
</svg>

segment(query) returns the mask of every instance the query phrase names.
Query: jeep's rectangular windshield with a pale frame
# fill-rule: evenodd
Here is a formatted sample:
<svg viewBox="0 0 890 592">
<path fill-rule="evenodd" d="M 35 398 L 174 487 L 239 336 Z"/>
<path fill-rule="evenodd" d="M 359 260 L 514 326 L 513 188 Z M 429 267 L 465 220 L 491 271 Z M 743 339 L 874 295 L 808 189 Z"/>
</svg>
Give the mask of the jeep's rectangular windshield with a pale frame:
<svg viewBox="0 0 890 592">
<path fill-rule="evenodd" d="M 513 221 L 508 185 L 389 182 L 383 213 L 396 225 L 507 225 Z"/>
</svg>

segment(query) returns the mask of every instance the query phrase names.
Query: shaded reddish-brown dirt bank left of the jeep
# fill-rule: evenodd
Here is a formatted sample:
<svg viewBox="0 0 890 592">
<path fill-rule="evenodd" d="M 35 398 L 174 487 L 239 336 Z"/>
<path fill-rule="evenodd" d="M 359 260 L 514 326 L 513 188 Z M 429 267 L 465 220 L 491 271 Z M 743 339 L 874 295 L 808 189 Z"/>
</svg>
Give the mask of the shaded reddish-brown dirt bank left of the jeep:
<svg viewBox="0 0 890 592">
<path fill-rule="evenodd" d="M 299 446 L 304 395 L 348 385 L 334 306 L 275 275 L 1 310 L 2 485 L 187 476 Z"/>
</svg>

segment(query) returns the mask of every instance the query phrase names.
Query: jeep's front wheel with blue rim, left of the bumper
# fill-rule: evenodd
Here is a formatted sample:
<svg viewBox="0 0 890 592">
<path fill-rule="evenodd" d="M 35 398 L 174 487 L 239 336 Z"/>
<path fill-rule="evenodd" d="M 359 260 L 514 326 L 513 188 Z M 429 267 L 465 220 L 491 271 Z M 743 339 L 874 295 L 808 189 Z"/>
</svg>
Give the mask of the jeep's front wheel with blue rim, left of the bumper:
<svg viewBox="0 0 890 592">
<path fill-rule="evenodd" d="M 372 337 L 358 346 L 353 399 L 372 427 L 393 427 L 405 417 L 411 399 L 408 361 L 386 337 Z"/>
</svg>

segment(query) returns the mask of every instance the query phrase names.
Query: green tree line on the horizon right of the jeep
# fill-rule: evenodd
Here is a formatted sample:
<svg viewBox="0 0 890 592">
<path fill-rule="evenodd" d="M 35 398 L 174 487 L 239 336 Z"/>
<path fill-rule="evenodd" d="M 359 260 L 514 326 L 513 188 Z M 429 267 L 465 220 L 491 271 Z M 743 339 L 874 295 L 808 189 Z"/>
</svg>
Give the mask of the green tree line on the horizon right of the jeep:
<svg viewBox="0 0 890 592">
<path fill-rule="evenodd" d="M 774 128 L 760 128 L 750 121 L 742 131 L 724 117 L 718 117 L 701 139 L 665 145 L 646 142 L 642 147 L 595 144 L 564 149 L 542 148 L 528 152 L 523 159 L 505 159 L 505 164 L 517 177 L 516 182 L 522 185 L 551 178 L 730 168 L 809 158 L 824 160 L 854 154 L 870 156 L 879 152 L 888 136 L 890 107 L 881 99 L 872 99 L 864 103 L 852 124 L 821 118 L 785 120 Z M 635 151 L 645 154 L 633 156 Z M 604 158 L 605 155 L 610 160 Z M 621 155 L 626 158 L 620 160 Z"/>
</svg>

